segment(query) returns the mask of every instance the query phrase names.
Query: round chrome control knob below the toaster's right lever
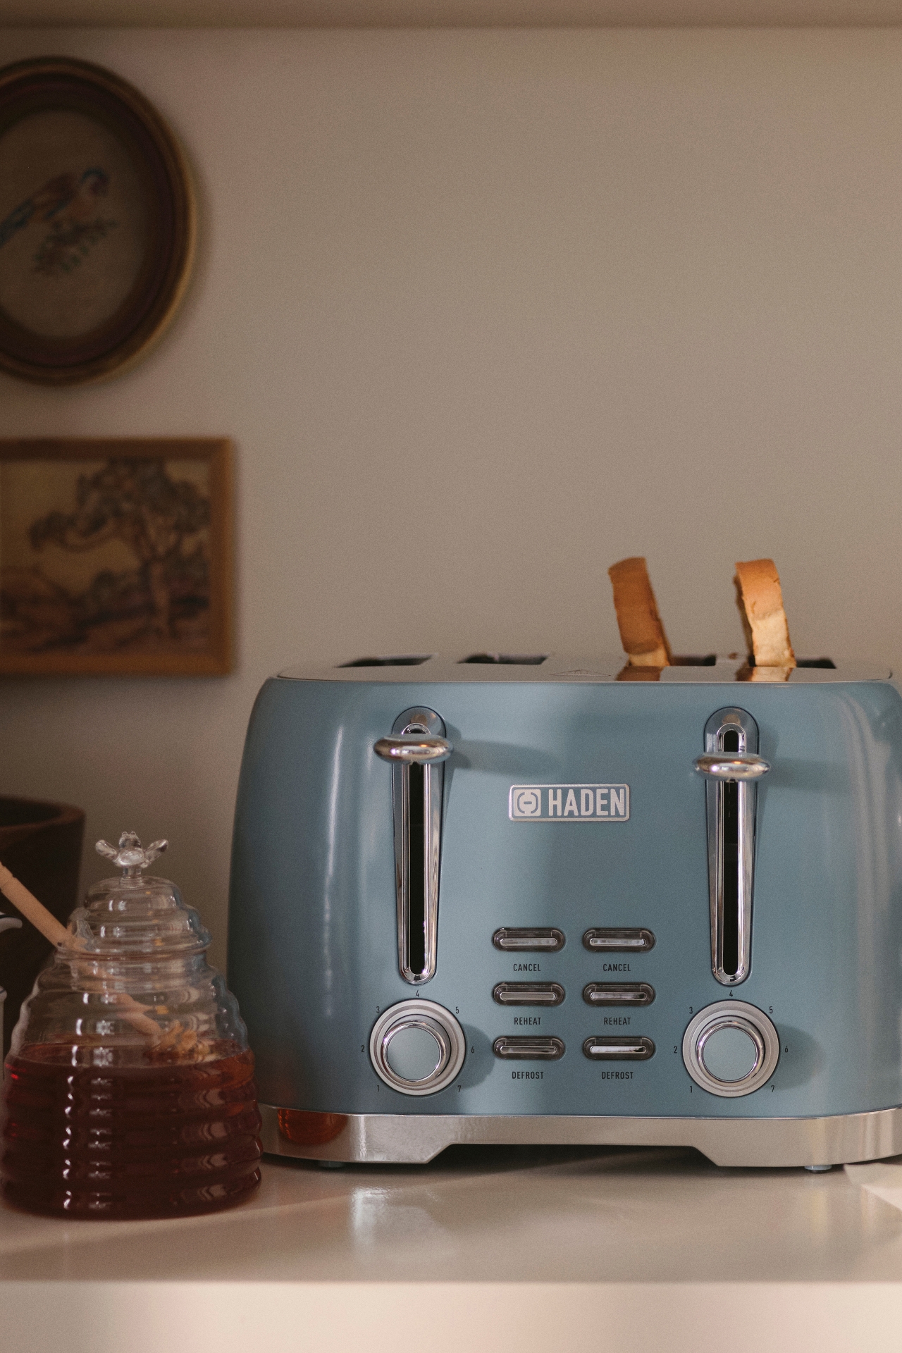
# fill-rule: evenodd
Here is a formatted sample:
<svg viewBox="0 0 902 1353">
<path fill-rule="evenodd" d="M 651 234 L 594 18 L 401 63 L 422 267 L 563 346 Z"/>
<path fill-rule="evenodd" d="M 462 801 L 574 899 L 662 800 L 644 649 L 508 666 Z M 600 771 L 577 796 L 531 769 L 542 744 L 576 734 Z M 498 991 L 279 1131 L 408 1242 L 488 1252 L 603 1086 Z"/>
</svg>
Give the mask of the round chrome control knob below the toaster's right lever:
<svg viewBox="0 0 902 1353">
<path fill-rule="evenodd" d="M 709 1095 L 736 1099 L 769 1081 L 780 1057 L 780 1035 L 757 1005 L 715 1001 L 692 1017 L 683 1035 L 683 1061 Z"/>
</svg>

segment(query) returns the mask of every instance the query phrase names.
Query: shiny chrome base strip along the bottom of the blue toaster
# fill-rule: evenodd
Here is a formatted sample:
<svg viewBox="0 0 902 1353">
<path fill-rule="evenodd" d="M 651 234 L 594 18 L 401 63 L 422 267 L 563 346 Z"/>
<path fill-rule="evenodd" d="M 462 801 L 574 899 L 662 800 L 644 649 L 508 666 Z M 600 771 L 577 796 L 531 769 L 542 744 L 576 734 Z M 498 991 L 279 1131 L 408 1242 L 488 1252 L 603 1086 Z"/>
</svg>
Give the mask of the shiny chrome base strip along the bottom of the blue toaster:
<svg viewBox="0 0 902 1353">
<path fill-rule="evenodd" d="M 832 1118 L 592 1118 L 348 1114 L 329 1142 L 298 1145 L 261 1104 L 262 1146 L 308 1161 L 425 1165 L 446 1146 L 692 1146 L 715 1165 L 847 1165 L 902 1153 L 902 1107 Z M 303 1109 L 295 1112 L 303 1114 Z M 310 1114 L 310 1135 L 325 1114 Z"/>
</svg>

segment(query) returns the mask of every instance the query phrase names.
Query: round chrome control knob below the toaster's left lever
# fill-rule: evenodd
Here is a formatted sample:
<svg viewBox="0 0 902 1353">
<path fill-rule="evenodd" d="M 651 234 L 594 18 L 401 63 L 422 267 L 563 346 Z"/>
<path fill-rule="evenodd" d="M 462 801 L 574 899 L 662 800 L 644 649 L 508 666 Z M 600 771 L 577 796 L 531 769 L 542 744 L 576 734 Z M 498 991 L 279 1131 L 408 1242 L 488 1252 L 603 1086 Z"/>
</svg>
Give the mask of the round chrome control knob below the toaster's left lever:
<svg viewBox="0 0 902 1353">
<path fill-rule="evenodd" d="M 464 1031 L 435 1001 L 399 1001 L 379 1016 L 369 1035 L 376 1074 L 402 1095 L 435 1095 L 464 1065 Z"/>
</svg>

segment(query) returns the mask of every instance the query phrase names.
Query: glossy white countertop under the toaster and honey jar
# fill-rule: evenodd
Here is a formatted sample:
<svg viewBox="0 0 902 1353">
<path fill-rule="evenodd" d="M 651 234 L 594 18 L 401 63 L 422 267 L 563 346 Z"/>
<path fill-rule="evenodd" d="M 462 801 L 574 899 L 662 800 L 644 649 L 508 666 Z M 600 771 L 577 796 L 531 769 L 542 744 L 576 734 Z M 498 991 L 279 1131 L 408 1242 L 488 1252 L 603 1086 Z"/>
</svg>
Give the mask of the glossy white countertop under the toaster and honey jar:
<svg viewBox="0 0 902 1353">
<path fill-rule="evenodd" d="M 3 1353 L 902 1348 L 902 1158 L 828 1174 L 684 1150 L 268 1161 L 207 1218 L 0 1207 Z"/>
</svg>

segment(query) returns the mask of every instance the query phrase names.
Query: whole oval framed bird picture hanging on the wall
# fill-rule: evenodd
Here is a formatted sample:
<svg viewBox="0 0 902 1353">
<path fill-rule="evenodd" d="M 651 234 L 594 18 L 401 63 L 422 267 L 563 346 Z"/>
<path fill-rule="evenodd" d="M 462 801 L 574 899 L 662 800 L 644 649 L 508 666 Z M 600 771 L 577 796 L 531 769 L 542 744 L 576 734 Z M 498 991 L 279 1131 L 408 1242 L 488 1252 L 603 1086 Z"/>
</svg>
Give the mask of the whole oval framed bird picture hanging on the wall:
<svg viewBox="0 0 902 1353">
<path fill-rule="evenodd" d="M 138 89 L 64 57 L 0 69 L 0 369 L 68 386 L 134 365 L 195 235 L 184 154 Z"/>
</svg>

